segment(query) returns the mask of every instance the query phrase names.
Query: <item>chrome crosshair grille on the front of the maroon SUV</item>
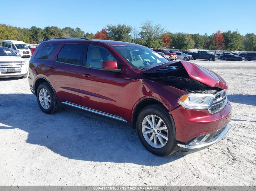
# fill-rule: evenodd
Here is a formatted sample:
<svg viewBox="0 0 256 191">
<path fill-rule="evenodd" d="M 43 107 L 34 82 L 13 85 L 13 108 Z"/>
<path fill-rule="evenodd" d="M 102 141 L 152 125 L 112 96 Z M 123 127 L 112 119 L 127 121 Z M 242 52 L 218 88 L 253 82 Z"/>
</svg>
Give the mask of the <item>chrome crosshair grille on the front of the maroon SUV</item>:
<svg viewBox="0 0 256 191">
<path fill-rule="evenodd" d="M 226 90 L 222 90 L 217 94 L 214 94 L 213 102 L 209 108 L 210 113 L 216 113 L 220 111 L 227 104 L 228 96 Z"/>
</svg>

